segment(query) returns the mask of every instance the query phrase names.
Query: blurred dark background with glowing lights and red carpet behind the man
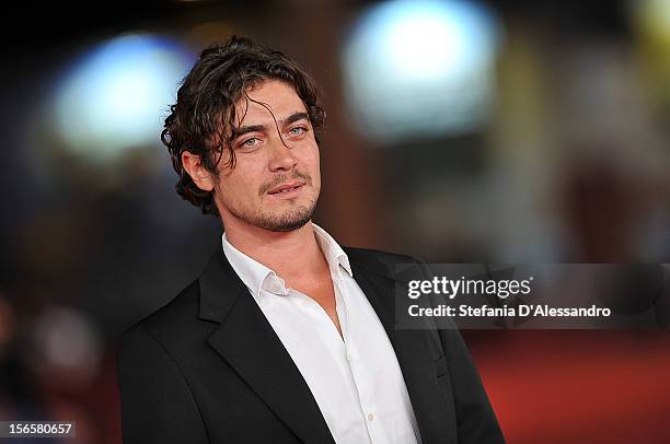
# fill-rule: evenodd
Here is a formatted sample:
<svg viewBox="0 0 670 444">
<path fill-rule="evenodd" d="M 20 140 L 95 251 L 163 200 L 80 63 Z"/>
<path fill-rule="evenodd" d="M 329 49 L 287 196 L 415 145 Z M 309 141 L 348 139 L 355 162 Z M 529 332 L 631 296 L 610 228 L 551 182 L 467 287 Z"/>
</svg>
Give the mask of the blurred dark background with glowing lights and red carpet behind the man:
<svg viewBox="0 0 670 444">
<path fill-rule="evenodd" d="M 426 262 L 670 262 L 670 0 L 14 7 L 0 420 L 120 442 L 117 340 L 220 242 L 174 191 L 162 119 L 197 54 L 232 34 L 320 84 L 315 221 L 340 244 Z M 670 440 L 667 328 L 463 335 L 508 442 Z"/>
</svg>

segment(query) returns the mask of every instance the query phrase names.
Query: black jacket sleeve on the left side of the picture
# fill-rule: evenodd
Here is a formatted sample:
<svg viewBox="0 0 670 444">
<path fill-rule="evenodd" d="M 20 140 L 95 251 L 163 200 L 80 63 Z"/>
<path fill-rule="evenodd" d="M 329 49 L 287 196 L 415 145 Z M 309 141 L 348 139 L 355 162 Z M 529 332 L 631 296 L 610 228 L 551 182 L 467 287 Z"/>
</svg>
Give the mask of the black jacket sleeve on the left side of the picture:
<svg viewBox="0 0 670 444">
<path fill-rule="evenodd" d="M 184 375 L 141 326 L 122 338 L 118 383 L 125 444 L 209 442 Z"/>
</svg>

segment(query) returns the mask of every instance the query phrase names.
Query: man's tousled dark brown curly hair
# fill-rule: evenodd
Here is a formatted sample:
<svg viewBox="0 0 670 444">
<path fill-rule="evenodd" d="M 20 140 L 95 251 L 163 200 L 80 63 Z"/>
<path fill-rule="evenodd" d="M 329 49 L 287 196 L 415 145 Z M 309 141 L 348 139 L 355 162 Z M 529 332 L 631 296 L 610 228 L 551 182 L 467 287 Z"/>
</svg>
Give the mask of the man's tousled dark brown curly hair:
<svg viewBox="0 0 670 444">
<path fill-rule="evenodd" d="M 180 177 L 175 188 L 205 214 L 219 217 L 213 191 L 196 186 L 184 170 L 182 153 L 198 155 L 205 168 L 216 175 L 223 151 L 229 147 L 230 156 L 223 167 L 234 168 L 235 155 L 230 147 L 244 117 L 235 116 L 234 105 L 242 97 L 249 100 L 246 92 L 265 80 L 280 80 L 293 86 L 314 130 L 323 128 L 325 112 L 310 75 L 282 52 L 239 36 L 200 54 L 177 91 L 176 103 L 170 106 L 161 141 L 168 147 Z"/>
</svg>

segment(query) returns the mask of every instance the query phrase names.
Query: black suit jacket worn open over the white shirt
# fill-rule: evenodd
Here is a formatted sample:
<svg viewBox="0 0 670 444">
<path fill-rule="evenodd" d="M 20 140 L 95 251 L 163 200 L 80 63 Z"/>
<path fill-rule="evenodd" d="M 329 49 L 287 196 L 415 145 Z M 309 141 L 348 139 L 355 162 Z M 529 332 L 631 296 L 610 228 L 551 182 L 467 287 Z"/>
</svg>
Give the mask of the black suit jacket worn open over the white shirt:
<svg viewBox="0 0 670 444">
<path fill-rule="evenodd" d="M 503 442 L 458 330 L 394 328 L 393 265 L 417 261 L 345 252 L 393 344 L 424 444 Z M 126 444 L 333 443 L 298 367 L 221 248 L 199 279 L 124 334 L 118 358 Z"/>
</svg>

